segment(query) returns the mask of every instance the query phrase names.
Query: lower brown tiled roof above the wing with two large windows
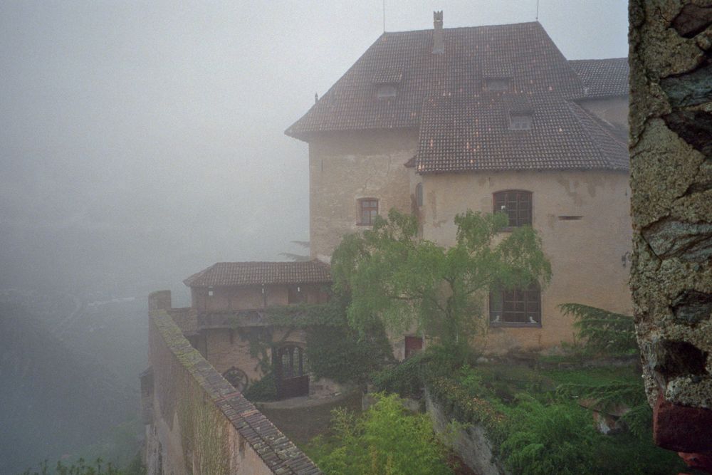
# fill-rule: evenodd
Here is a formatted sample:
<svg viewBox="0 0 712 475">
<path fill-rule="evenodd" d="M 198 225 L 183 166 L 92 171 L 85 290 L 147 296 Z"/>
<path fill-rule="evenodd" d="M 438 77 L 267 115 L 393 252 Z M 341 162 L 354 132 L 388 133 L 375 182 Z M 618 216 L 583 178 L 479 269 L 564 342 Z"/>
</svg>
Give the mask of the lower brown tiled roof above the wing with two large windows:
<svg viewBox="0 0 712 475">
<path fill-rule="evenodd" d="M 507 169 L 628 169 L 624 141 L 579 105 L 552 95 L 481 93 L 426 100 L 419 173 Z M 509 115 L 533 110 L 529 130 L 511 130 Z"/>
</svg>

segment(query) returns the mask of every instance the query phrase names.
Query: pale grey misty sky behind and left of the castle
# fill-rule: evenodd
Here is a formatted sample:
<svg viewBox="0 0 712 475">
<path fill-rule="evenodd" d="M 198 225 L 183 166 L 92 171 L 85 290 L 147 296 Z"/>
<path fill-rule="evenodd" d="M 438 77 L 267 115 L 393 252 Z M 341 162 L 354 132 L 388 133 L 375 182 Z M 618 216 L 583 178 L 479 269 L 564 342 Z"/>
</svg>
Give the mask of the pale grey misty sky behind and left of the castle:
<svg viewBox="0 0 712 475">
<path fill-rule="evenodd" d="M 536 0 L 387 0 L 387 31 Z M 0 3 L 0 287 L 167 288 L 308 239 L 283 135 L 382 32 L 382 0 Z M 627 55 L 627 1 L 540 0 L 567 58 Z"/>
</svg>

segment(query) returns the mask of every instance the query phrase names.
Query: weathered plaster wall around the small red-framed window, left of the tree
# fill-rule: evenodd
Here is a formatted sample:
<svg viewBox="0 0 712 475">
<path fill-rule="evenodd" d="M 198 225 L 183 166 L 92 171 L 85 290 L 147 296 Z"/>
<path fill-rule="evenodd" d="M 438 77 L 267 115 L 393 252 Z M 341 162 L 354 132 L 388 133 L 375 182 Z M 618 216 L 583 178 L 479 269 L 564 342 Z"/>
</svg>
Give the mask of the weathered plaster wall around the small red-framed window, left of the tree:
<svg viewBox="0 0 712 475">
<path fill-rule="evenodd" d="M 417 151 L 417 130 L 353 132 L 309 142 L 311 256 L 329 261 L 342 236 L 360 226 L 360 198 L 376 198 L 382 216 L 410 212 L 408 169 Z"/>
</svg>

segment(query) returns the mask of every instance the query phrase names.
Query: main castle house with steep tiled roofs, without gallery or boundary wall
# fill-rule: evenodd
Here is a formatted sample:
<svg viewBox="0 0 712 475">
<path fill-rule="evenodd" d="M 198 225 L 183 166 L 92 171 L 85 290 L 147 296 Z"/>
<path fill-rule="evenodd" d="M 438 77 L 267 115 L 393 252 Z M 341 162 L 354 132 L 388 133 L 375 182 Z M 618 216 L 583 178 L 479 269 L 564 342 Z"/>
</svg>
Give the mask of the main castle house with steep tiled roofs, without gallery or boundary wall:
<svg viewBox="0 0 712 475">
<path fill-rule="evenodd" d="M 432 30 L 383 33 L 286 130 L 309 145 L 312 257 L 391 208 L 444 246 L 456 214 L 506 212 L 553 278 L 490 294 L 488 350 L 572 340 L 562 303 L 630 312 L 627 83 L 627 58 L 567 61 L 538 22 L 443 28 L 436 12 Z"/>
</svg>

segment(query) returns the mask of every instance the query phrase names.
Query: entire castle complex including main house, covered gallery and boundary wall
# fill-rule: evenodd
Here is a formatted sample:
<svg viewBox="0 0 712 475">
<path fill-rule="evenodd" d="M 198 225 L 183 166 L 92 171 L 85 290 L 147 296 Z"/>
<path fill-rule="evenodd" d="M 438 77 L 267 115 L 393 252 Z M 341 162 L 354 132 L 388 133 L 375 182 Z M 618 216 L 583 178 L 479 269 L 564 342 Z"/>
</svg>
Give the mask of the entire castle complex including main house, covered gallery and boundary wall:
<svg viewBox="0 0 712 475">
<path fill-rule="evenodd" d="M 538 23 L 445 29 L 436 12 L 383 33 L 286 130 L 309 145 L 313 260 L 216 263 L 184 281 L 189 308 L 149 297 L 148 472 L 320 473 L 242 392 L 265 364 L 281 397 L 340 390 L 310 382 L 302 330 L 266 317 L 325 302 L 342 236 L 392 208 L 443 246 L 468 209 L 538 231 L 552 281 L 490 293 L 488 352 L 572 340 L 562 303 L 628 313 L 627 78 L 626 58 L 567 61 Z M 422 348 L 392 336 L 399 358 Z"/>
</svg>

